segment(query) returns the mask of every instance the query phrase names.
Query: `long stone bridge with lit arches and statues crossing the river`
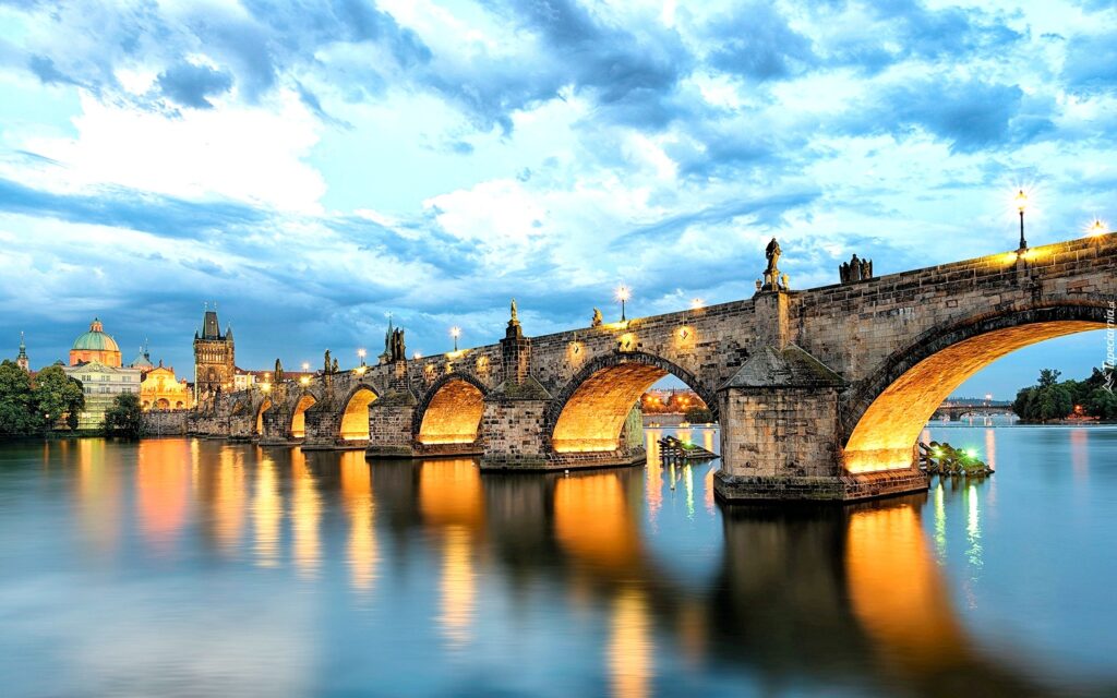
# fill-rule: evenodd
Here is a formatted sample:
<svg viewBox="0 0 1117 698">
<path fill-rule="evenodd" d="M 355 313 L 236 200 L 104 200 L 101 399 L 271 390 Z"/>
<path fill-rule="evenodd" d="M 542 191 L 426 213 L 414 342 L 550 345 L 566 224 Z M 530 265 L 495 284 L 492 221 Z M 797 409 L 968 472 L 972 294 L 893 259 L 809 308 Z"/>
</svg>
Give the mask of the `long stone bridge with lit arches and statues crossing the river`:
<svg viewBox="0 0 1117 698">
<path fill-rule="evenodd" d="M 779 257 L 775 257 L 777 260 Z M 926 488 L 915 443 L 973 373 L 1043 340 L 1102 328 L 1117 235 L 277 382 L 204 401 L 194 433 L 479 455 L 483 469 L 640 462 L 638 401 L 671 374 L 722 424 L 720 497 L 851 500 Z M 758 283 L 760 285 L 760 283 Z"/>
</svg>

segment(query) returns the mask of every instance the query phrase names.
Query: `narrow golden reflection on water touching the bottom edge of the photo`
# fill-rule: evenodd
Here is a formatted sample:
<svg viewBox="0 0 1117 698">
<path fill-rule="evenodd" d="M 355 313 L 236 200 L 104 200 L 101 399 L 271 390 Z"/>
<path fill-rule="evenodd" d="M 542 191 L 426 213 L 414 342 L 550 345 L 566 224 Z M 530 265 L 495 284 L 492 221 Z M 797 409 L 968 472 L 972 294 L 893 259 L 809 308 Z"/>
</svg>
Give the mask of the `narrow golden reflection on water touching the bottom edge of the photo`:
<svg viewBox="0 0 1117 698">
<path fill-rule="evenodd" d="M 648 600 L 640 589 L 627 586 L 612 600 L 609 633 L 609 678 L 617 698 L 650 695 L 655 642 Z"/>
</svg>

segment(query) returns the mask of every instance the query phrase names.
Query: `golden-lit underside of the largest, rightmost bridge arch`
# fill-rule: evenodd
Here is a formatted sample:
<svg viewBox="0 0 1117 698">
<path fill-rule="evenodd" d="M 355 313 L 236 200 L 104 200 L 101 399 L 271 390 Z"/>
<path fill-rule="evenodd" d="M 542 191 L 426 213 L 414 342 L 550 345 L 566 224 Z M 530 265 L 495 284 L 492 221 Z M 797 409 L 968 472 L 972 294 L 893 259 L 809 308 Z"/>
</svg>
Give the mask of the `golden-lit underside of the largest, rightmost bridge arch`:
<svg viewBox="0 0 1117 698">
<path fill-rule="evenodd" d="M 1068 303 L 985 313 L 924 333 L 889 355 L 846 400 L 846 469 L 910 468 L 919 432 L 971 375 L 1024 346 L 1105 326 L 1104 305 Z"/>
</svg>

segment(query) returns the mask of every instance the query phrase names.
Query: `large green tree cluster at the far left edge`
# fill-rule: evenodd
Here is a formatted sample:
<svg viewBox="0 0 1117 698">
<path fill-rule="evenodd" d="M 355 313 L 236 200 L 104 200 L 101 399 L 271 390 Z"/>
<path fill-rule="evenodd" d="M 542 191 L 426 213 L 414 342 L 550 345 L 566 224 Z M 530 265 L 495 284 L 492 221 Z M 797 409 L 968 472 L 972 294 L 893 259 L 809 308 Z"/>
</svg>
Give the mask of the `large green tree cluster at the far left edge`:
<svg viewBox="0 0 1117 698">
<path fill-rule="evenodd" d="M 44 433 L 64 417 L 67 426 L 76 429 L 83 408 L 82 383 L 66 375 L 61 366 L 48 366 L 32 381 L 15 362 L 0 363 L 0 436 Z"/>
</svg>

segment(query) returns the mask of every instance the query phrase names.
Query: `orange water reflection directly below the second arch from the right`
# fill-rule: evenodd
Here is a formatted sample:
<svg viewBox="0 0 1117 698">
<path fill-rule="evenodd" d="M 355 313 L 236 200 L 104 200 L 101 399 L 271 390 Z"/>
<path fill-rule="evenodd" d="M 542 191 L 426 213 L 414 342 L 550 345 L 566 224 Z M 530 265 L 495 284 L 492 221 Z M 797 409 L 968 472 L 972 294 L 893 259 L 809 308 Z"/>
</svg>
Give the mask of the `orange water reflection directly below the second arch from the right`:
<svg viewBox="0 0 1117 698">
<path fill-rule="evenodd" d="M 617 472 L 555 482 L 555 538 L 570 555 L 604 570 L 628 570 L 640 556 L 640 533 Z"/>
</svg>

